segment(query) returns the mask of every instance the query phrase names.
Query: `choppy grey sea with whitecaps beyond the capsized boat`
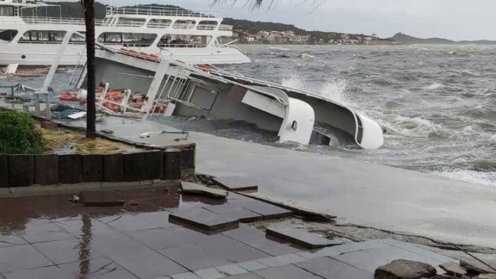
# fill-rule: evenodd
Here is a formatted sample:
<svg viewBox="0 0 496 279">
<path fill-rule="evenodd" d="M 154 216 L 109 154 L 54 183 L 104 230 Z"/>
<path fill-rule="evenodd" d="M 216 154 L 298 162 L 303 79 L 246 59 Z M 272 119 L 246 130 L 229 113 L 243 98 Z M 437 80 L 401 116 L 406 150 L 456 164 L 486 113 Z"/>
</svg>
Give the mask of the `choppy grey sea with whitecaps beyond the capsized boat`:
<svg viewBox="0 0 496 279">
<path fill-rule="evenodd" d="M 496 186 L 496 47 L 242 49 L 252 64 L 225 69 L 329 97 L 404 135 L 386 135 L 377 150 L 299 149 Z"/>
</svg>

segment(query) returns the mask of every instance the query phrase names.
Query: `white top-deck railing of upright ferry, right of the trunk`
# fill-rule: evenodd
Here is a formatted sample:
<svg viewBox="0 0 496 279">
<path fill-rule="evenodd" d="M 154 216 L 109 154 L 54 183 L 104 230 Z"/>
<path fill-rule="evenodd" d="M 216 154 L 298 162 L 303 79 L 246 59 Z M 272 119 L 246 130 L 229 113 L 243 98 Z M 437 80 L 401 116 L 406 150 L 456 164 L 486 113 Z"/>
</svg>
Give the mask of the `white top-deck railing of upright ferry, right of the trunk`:
<svg viewBox="0 0 496 279">
<path fill-rule="evenodd" d="M 194 18 L 222 18 L 220 11 L 210 9 L 184 9 L 160 6 L 128 6 L 110 7 L 107 6 L 107 16 L 119 15 L 142 15 L 142 16 L 181 16 Z"/>
</svg>

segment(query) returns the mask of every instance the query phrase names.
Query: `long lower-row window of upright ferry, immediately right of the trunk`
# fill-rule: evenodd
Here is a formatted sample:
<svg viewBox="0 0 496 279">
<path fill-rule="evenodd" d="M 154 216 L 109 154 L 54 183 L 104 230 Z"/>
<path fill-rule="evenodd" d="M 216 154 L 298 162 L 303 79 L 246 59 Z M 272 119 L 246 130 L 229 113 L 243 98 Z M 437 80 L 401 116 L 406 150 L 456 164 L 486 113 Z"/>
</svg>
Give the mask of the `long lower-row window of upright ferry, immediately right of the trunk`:
<svg viewBox="0 0 496 279">
<path fill-rule="evenodd" d="M 98 37 L 102 44 L 122 44 L 124 47 L 150 47 L 157 34 L 105 32 Z"/>
</svg>

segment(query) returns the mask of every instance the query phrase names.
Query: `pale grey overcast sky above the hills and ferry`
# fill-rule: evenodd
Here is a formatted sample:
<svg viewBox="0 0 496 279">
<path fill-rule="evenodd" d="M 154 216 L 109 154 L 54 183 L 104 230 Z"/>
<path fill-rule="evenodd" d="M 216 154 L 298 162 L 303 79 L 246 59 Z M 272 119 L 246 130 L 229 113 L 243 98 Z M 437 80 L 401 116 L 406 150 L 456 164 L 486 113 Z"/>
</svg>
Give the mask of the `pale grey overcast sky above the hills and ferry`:
<svg viewBox="0 0 496 279">
<path fill-rule="evenodd" d="M 290 23 L 307 30 L 496 40 L 496 0 L 326 0 L 313 12 L 313 0 L 301 5 L 305 0 L 276 1 L 275 7 L 256 11 L 246 7 L 245 0 L 235 6 L 231 0 L 220 0 L 214 8 L 225 17 Z M 113 0 L 119 6 L 135 3 L 210 8 L 211 0 Z"/>
</svg>

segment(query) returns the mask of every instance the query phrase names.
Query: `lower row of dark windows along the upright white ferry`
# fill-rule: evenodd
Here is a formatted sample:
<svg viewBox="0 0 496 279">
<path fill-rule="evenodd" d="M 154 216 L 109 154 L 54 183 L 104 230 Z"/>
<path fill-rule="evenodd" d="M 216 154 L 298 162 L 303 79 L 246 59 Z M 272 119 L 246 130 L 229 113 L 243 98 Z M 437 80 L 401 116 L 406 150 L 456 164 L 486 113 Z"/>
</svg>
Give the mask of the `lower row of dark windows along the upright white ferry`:
<svg viewBox="0 0 496 279">
<path fill-rule="evenodd" d="M 0 31 L 0 40 L 11 42 L 17 35 L 17 30 Z M 84 32 L 81 32 L 84 35 Z M 64 40 L 66 31 L 30 30 L 20 37 L 19 43 L 59 44 Z M 157 34 L 104 32 L 98 36 L 102 44 L 118 44 L 127 47 L 149 47 L 155 42 Z M 212 40 L 208 35 L 163 35 L 158 41 L 158 47 L 206 47 Z M 73 34 L 71 44 L 84 44 L 85 38 Z"/>
</svg>

